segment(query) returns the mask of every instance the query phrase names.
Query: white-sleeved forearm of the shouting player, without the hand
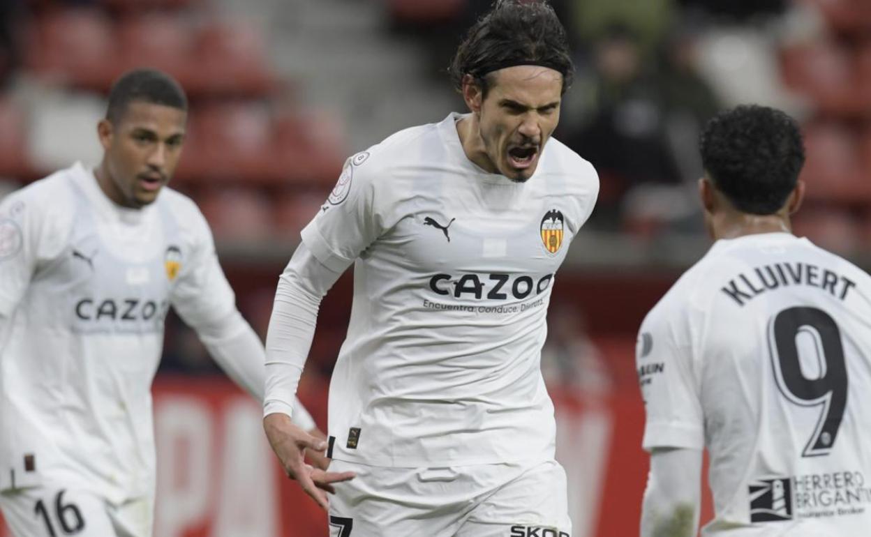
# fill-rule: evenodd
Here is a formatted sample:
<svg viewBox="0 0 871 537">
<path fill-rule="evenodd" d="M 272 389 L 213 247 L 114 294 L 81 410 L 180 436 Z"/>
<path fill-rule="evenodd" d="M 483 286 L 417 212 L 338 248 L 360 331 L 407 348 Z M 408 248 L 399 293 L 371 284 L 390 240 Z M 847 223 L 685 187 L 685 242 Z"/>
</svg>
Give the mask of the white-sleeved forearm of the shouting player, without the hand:
<svg viewBox="0 0 871 537">
<path fill-rule="evenodd" d="M 267 332 L 264 414 L 291 413 L 302 369 L 312 346 L 321 299 L 339 278 L 305 245 L 281 274 Z"/>
</svg>

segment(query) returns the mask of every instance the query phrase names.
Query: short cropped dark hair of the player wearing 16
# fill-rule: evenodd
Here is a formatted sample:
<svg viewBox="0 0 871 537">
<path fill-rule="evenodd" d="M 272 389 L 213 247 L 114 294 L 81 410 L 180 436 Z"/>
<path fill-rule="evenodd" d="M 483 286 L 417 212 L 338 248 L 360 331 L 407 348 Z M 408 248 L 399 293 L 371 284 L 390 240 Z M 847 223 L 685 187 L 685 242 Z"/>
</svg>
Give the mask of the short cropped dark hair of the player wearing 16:
<svg viewBox="0 0 871 537">
<path fill-rule="evenodd" d="M 106 119 L 118 124 L 127 106 L 134 101 L 187 110 L 187 97 L 181 85 L 160 70 L 137 69 L 121 75 L 109 92 Z"/>
</svg>

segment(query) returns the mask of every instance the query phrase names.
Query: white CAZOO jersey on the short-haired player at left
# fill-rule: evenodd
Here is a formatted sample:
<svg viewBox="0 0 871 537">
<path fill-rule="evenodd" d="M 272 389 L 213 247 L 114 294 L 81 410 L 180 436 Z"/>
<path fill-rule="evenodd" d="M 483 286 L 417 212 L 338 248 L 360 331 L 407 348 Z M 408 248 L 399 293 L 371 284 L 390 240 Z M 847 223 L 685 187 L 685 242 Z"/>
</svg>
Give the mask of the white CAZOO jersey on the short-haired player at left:
<svg viewBox="0 0 871 537">
<path fill-rule="evenodd" d="M 199 209 L 165 188 L 113 205 L 77 164 L 0 204 L 0 489 L 69 482 L 152 493 L 152 378 L 172 305 L 235 309 Z"/>
</svg>

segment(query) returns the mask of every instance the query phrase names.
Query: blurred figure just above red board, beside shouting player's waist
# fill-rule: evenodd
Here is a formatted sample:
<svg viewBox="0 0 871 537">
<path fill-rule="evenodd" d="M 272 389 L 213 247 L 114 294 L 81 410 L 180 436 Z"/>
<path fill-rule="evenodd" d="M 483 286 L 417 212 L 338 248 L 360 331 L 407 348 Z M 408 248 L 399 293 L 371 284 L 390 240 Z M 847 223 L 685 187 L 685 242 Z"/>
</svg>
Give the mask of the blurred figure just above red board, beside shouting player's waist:
<svg viewBox="0 0 871 537">
<path fill-rule="evenodd" d="M 548 326 L 542 349 L 544 382 L 551 389 L 579 396 L 611 393 L 611 371 L 587 333 L 584 313 L 572 305 L 554 305 L 548 312 Z"/>
</svg>

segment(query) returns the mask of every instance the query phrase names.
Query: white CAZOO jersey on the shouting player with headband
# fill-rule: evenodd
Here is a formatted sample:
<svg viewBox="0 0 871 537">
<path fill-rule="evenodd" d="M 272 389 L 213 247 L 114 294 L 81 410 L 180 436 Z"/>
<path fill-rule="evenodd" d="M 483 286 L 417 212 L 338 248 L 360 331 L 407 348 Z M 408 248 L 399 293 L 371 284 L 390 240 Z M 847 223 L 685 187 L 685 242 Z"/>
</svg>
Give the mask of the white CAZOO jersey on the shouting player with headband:
<svg viewBox="0 0 871 537">
<path fill-rule="evenodd" d="M 545 313 L 598 177 L 554 139 L 525 183 L 487 173 L 463 151 L 461 117 L 349 158 L 302 231 L 335 271 L 356 260 L 330 386 L 334 459 L 437 467 L 553 456 Z"/>
</svg>

